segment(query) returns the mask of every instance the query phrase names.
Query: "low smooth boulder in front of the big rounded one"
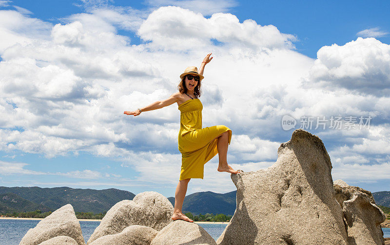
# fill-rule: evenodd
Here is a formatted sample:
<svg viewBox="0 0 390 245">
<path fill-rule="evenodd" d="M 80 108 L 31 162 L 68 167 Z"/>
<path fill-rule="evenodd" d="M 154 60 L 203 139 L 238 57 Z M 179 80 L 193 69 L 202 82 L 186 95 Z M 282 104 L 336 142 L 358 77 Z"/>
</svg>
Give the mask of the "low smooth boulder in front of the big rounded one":
<svg viewBox="0 0 390 245">
<path fill-rule="evenodd" d="M 150 245 L 157 232 L 151 227 L 134 225 L 120 233 L 99 237 L 91 245 Z"/>
</svg>

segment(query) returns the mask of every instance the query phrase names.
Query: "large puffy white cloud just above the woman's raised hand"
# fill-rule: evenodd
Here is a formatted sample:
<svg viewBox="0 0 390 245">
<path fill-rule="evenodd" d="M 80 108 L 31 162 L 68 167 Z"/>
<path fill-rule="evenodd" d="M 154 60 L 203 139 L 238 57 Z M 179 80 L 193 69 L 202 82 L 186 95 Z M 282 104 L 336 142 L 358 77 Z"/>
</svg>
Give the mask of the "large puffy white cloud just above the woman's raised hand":
<svg viewBox="0 0 390 245">
<path fill-rule="evenodd" d="M 151 13 L 140 26 L 138 35 L 152 40 L 157 47 L 184 51 L 204 50 L 211 46 L 211 39 L 251 50 L 293 48 L 292 41 L 296 40 L 291 34 L 280 33 L 273 25 L 261 26 L 252 19 L 240 23 L 234 15 L 222 13 L 204 18 L 175 6 L 161 7 Z"/>
</svg>

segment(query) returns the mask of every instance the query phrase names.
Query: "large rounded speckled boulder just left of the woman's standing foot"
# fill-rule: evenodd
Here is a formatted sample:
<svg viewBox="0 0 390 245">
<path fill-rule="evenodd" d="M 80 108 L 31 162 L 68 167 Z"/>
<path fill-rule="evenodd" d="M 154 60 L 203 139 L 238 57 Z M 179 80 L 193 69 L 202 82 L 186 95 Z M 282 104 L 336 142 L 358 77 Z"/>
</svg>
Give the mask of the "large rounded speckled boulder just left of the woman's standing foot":
<svg viewBox="0 0 390 245">
<path fill-rule="evenodd" d="M 161 230 L 172 220 L 174 207 L 171 202 L 158 192 L 142 192 L 132 201 L 123 200 L 115 204 L 95 229 L 87 244 L 106 235 L 121 232 L 132 225 L 141 225 Z"/>
</svg>

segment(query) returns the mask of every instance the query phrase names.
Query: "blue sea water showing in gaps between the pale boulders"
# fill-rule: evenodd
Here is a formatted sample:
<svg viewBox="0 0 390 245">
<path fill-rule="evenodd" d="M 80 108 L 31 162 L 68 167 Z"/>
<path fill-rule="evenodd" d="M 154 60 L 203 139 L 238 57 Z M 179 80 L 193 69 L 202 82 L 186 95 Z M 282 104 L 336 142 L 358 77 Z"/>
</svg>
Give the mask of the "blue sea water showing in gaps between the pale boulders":
<svg viewBox="0 0 390 245">
<path fill-rule="evenodd" d="M 34 228 L 39 220 L 11 220 L 0 219 L 0 245 L 19 245 L 24 234 L 30 228 Z M 79 221 L 81 232 L 85 243 L 91 237 L 92 233 L 100 221 Z M 198 224 L 203 227 L 216 241 L 222 234 L 227 224 Z M 390 237 L 390 228 L 382 228 L 384 237 Z"/>
</svg>

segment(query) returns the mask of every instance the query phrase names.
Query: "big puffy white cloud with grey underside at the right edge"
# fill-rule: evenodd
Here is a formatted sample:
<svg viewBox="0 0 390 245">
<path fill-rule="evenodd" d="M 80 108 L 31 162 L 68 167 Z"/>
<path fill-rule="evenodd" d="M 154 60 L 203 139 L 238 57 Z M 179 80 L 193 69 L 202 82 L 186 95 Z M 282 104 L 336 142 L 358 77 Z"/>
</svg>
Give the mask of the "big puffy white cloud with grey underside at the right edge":
<svg viewBox="0 0 390 245">
<path fill-rule="evenodd" d="M 358 37 L 343 46 L 324 46 L 310 70 L 305 87 L 348 89 L 375 96 L 390 92 L 390 45 Z"/>
</svg>

